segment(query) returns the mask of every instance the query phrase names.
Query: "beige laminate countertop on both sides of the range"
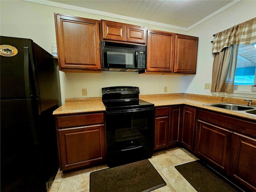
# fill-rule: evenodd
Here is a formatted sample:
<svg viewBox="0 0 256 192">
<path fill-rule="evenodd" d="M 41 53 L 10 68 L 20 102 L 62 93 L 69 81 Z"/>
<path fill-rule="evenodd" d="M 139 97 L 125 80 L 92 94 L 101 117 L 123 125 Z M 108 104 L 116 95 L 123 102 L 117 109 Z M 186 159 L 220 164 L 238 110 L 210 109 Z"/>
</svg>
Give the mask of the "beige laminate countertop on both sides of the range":
<svg viewBox="0 0 256 192">
<path fill-rule="evenodd" d="M 60 108 L 56 109 L 53 112 L 53 114 L 60 115 L 60 114 L 82 113 L 82 112 L 105 111 L 106 109 L 101 99 L 102 98 L 100 97 L 66 99 L 66 103 L 60 106 Z M 197 94 L 184 94 L 184 93 L 140 95 L 140 99 L 154 104 L 155 107 L 186 104 L 186 105 L 190 105 L 190 106 L 194 106 L 202 109 L 208 109 L 216 112 L 222 112 L 224 114 L 230 114 L 230 115 L 235 115 L 243 118 L 248 118 L 251 120 L 256 120 L 256 115 L 203 105 L 203 104 L 220 103 L 220 102 L 229 102 L 229 103 L 247 105 L 248 101 L 244 101 L 243 99 L 205 96 L 205 95 L 197 95 Z M 253 101 L 252 103 L 255 105 L 256 101 Z"/>
</svg>

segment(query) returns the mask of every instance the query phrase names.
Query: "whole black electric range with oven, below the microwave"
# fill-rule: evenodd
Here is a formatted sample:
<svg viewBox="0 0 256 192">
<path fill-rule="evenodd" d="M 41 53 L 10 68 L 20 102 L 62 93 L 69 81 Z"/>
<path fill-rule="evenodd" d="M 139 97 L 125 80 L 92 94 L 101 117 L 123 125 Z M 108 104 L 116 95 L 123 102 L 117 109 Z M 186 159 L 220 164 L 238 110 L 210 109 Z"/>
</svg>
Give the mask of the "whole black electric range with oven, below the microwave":
<svg viewBox="0 0 256 192">
<path fill-rule="evenodd" d="M 139 93 L 131 86 L 102 88 L 110 167 L 153 155 L 154 104 L 140 100 Z"/>
</svg>

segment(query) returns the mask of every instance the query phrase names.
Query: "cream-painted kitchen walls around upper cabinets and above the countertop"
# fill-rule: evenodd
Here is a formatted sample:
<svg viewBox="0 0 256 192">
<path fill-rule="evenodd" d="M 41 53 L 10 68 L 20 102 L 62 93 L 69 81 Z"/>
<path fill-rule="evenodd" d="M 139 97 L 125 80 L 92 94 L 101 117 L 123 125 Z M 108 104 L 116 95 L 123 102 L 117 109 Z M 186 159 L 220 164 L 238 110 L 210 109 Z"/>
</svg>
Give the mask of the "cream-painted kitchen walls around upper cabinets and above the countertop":
<svg viewBox="0 0 256 192">
<path fill-rule="evenodd" d="M 51 52 L 52 44 L 56 44 L 54 26 L 54 12 L 56 12 L 97 20 L 105 19 L 137 24 L 149 29 L 198 36 L 196 75 L 139 75 L 134 72 L 102 72 L 100 74 L 60 72 L 62 103 L 64 103 L 65 98 L 100 97 L 102 87 L 121 85 L 138 86 L 140 87 L 140 94 L 164 94 L 164 86 L 167 86 L 167 93 L 187 92 L 211 95 L 210 90 L 204 90 L 204 83 L 211 82 L 213 56 L 210 41 L 213 40 L 212 34 L 255 17 L 255 10 L 256 1 L 243 0 L 186 32 L 33 2 L 1 0 L 0 35 L 30 38 L 45 50 Z M 87 96 L 82 96 L 82 88 L 87 89 Z"/>
</svg>

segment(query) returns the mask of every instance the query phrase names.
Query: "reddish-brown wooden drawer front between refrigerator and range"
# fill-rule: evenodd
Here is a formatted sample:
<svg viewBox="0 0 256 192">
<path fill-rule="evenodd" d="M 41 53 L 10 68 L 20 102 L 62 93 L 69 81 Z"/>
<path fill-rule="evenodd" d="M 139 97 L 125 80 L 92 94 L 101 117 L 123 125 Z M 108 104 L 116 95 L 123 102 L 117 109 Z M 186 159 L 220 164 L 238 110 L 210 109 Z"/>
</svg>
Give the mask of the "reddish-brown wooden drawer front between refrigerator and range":
<svg viewBox="0 0 256 192">
<path fill-rule="evenodd" d="M 104 113 L 81 114 L 57 117 L 58 128 L 104 123 Z"/>
</svg>

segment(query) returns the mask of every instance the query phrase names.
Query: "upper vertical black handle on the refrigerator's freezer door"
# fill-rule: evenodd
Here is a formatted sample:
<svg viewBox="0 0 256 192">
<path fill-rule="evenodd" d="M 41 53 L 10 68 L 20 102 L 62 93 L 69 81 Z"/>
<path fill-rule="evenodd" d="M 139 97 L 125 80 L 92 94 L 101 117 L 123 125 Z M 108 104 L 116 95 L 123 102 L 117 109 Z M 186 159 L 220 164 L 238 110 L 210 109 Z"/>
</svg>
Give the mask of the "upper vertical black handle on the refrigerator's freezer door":
<svg viewBox="0 0 256 192">
<path fill-rule="evenodd" d="M 25 92 L 26 98 L 30 98 L 30 83 L 29 83 L 29 53 L 28 47 L 23 47 L 24 52 L 24 80 L 25 80 Z"/>
</svg>

